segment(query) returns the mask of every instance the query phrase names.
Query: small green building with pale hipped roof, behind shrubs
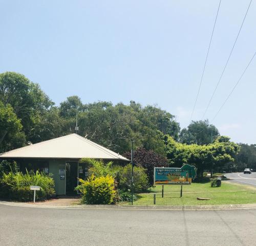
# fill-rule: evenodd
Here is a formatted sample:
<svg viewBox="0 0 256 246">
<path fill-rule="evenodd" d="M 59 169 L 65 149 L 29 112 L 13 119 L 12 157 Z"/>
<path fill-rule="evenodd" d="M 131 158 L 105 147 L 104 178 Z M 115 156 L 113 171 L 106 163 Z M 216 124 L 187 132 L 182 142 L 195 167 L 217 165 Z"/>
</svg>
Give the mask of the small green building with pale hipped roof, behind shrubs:
<svg viewBox="0 0 256 246">
<path fill-rule="evenodd" d="M 77 178 L 87 178 L 88 167 L 78 163 L 81 158 L 114 161 L 116 163 L 129 161 L 125 157 L 77 134 L 31 144 L 0 155 L 0 160 L 17 161 L 23 172 L 26 169 L 39 169 L 45 173 L 53 174 L 57 195 L 74 194 L 74 188 L 78 184 Z"/>
</svg>

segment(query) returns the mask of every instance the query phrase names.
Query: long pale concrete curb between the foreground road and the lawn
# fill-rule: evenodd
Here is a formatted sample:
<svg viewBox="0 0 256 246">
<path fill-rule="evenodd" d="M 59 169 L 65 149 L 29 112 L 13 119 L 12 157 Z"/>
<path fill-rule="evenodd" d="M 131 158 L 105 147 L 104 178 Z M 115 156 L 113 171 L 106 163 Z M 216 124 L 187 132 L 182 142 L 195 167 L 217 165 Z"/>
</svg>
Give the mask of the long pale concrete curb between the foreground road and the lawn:
<svg viewBox="0 0 256 246">
<path fill-rule="evenodd" d="M 116 210 L 229 210 L 229 209 L 256 209 L 256 204 L 230 204 L 230 205 L 71 205 L 53 206 L 41 204 L 28 204 L 0 201 L 0 205 L 25 207 L 25 208 L 51 208 L 51 209 L 116 209 Z"/>
</svg>

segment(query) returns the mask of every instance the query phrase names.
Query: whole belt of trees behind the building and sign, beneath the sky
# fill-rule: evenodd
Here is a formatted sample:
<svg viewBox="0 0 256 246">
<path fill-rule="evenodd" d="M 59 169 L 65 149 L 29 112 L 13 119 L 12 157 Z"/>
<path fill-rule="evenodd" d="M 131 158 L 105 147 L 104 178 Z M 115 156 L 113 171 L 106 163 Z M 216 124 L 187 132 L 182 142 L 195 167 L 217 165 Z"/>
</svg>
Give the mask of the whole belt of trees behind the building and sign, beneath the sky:
<svg viewBox="0 0 256 246">
<path fill-rule="evenodd" d="M 159 163 L 195 165 L 199 175 L 204 169 L 256 167 L 255 144 L 238 146 L 220 136 L 208 120 L 192 121 L 180 131 L 173 114 L 135 101 L 83 104 L 72 95 L 54 106 L 40 86 L 24 75 L 0 74 L 0 152 L 74 133 L 76 115 L 78 134 L 110 150 L 130 155 L 134 142 L 135 161 L 147 169 L 150 182 L 152 168 Z"/>
</svg>

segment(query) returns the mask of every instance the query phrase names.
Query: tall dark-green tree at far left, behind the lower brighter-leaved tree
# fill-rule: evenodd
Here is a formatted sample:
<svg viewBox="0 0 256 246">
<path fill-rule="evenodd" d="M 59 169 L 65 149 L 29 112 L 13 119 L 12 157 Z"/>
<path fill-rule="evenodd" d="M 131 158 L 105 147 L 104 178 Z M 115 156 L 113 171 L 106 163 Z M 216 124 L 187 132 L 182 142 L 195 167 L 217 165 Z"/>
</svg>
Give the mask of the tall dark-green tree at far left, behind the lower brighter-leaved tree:
<svg viewBox="0 0 256 246">
<path fill-rule="evenodd" d="M 0 74 L 0 100 L 4 106 L 8 104 L 12 106 L 13 112 L 23 125 L 27 140 L 33 142 L 35 135 L 33 127 L 53 102 L 38 84 L 16 72 Z"/>
</svg>

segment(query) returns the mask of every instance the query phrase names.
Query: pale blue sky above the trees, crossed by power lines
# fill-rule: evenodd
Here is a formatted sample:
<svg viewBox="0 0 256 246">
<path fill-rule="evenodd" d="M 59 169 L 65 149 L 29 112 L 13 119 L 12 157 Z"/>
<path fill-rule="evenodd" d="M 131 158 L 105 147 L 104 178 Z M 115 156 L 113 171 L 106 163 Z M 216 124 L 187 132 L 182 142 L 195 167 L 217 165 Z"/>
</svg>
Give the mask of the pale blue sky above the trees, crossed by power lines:
<svg viewBox="0 0 256 246">
<path fill-rule="evenodd" d="M 193 115 L 203 112 L 220 78 L 250 0 L 222 0 Z M 0 72 L 15 71 L 59 105 L 131 100 L 157 105 L 181 128 L 190 123 L 219 0 L 0 0 Z M 256 143 L 256 1 L 206 112 L 232 141 Z"/>
</svg>

